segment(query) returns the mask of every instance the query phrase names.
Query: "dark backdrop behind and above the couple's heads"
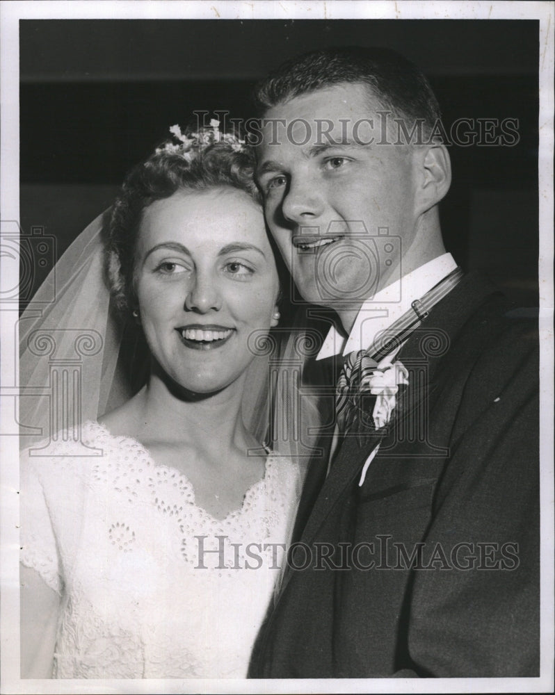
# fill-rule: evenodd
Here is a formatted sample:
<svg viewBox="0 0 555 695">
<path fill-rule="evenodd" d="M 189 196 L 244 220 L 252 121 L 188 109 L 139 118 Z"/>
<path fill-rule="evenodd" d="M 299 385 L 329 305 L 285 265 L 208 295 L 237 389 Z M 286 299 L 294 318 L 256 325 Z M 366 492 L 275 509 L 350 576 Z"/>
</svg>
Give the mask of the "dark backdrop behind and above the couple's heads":
<svg viewBox="0 0 555 695">
<path fill-rule="evenodd" d="M 463 268 L 538 306 L 538 32 L 535 20 L 22 20 L 22 230 L 43 227 L 59 257 L 171 124 L 196 109 L 250 117 L 252 85 L 304 51 L 386 46 L 424 70 L 447 127 L 519 120 L 514 147 L 449 147 L 442 227 Z"/>
</svg>

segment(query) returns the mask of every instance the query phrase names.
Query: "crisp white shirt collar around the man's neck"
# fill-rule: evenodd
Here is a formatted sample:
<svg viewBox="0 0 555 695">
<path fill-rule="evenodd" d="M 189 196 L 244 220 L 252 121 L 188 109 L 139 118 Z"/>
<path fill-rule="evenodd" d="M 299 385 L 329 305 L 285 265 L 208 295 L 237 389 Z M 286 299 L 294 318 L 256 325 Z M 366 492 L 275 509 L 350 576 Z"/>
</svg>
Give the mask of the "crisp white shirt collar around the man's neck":
<svg viewBox="0 0 555 695">
<path fill-rule="evenodd" d="M 410 309 L 414 300 L 425 295 L 456 267 L 451 254 L 442 254 L 387 285 L 362 304 L 348 338 L 341 336 L 335 326 L 330 328 L 316 359 L 367 350 L 378 333 L 389 328 Z"/>
</svg>

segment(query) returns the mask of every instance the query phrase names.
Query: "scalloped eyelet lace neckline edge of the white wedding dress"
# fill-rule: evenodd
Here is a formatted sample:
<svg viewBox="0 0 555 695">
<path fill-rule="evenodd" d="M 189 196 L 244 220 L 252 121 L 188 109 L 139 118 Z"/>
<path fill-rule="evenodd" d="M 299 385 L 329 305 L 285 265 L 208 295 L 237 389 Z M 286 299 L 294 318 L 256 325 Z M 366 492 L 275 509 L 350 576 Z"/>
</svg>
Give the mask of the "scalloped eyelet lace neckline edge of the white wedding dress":
<svg viewBox="0 0 555 695">
<path fill-rule="evenodd" d="M 219 518 L 218 516 L 214 516 L 213 514 L 210 514 L 210 512 L 207 511 L 207 509 L 204 509 L 204 507 L 200 507 L 197 504 L 196 501 L 196 494 L 195 494 L 195 488 L 193 486 L 193 483 L 191 480 L 189 480 L 188 476 L 183 473 L 182 471 L 179 471 L 179 468 L 175 468 L 174 466 L 168 466 L 166 464 L 159 464 L 156 463 L 154 460 L 154 457 L 150 453 L 150 451 L 145 447 L 143 443 L 138 441 L 138 439 L 135 439 L 132 436 L 127 436 L 125 434 L 112 434 L 110 430 L 106 427 L 106 425 L 102 425 L 101 423 L 95 421 L 95 420 L 88 420 L 82 425 L 83 431 L 86 432 L 87 430 L 92 430 L 94 431 L 95 429 L 99 430 L 101 436 L 104 435 L 107 439 L 111 439 L 116 443 L 116 445 L 124 445 L 124 446 L 132 446 L 136 445 L 141 452 L 145 455 L 147 461 L 150 463 L 152 468 L 155 468 L 156 470 L 159 471 L 168 471 L 168 473 L 171 473 L 172 475 L 176 475 L 178 480 L 182 480 L 183 485 L 186 487 L 188 492 L 191 495 L 191 501 L 189 502 L 191 505 L 194 505 L 196 509 L 199 510 L 200 514 L 207 518 L 208 521 L 216 521 L 217 523 L 224 523 L 225 521 L 229 521 L 234 518 L 240 517 L 242 514 L 246 512 L 246 510 L 249 508 L 249 503 L 251 500 L 255 499 L 262 489 L 266 487 L 268 482 L 270 482 L 273 471 L 274 471 L 274 464 L 275 464 L 275 454 L 273 451 L 268 452 L 268 455 L 266 456 L 266 461 L 264 461 L 264 475 L 259 479 L 256 480 L 255 482 L 252 483 L 252 485 L 245 491 L 245 494 L 243 495 L 243 502 L 241 502 L 241 506 L 237 507 L 236 509 L 232 509 L 229 514 L 226 516 L 223 516 L 222 518 Z M 96 433 L 93 434 L 93 436 L 96 436 Z"/>
</svg>

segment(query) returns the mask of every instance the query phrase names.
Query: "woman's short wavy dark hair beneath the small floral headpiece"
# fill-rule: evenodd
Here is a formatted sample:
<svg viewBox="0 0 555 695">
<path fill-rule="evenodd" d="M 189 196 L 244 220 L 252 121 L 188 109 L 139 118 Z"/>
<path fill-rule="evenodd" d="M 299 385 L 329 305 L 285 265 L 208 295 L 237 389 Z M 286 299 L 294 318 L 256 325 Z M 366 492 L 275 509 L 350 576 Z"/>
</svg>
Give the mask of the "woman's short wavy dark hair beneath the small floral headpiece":
<svg viewBox="0 0 555 695">
<path fill-rule="evenodd" d="M 122 313 L 135 303 L 134 267 L 138 229 L 143 212 L 156 200 L 178 190 L 236 188 L 262 205 L 253 178 L 255 159 L 248 147 L 223 140 L 200 142 L 187 152 L 166 144 L 124 179 L 112 209 L 106 240 L 106 274 L 115 306 Z"/>
</svg>

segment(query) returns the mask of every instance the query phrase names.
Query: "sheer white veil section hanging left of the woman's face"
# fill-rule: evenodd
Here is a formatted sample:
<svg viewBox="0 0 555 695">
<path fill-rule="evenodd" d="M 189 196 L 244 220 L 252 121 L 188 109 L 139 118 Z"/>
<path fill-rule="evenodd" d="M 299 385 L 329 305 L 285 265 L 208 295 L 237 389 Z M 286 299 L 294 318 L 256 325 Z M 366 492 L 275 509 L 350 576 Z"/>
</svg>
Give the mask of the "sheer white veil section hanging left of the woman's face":
<svg viewBox="0 0 555 695">
<path fill-rule="evenodd" d="M 111 313 L 104 281 L 105 218 L 106 213 L 99 215 L 77 237 L 19 319 L 19 425 L 24 445 L 49 438 L 67 425 L 95 420 L 108 409 L 118 384 L 115 368 L 124 327 Z"/>
</svg>

